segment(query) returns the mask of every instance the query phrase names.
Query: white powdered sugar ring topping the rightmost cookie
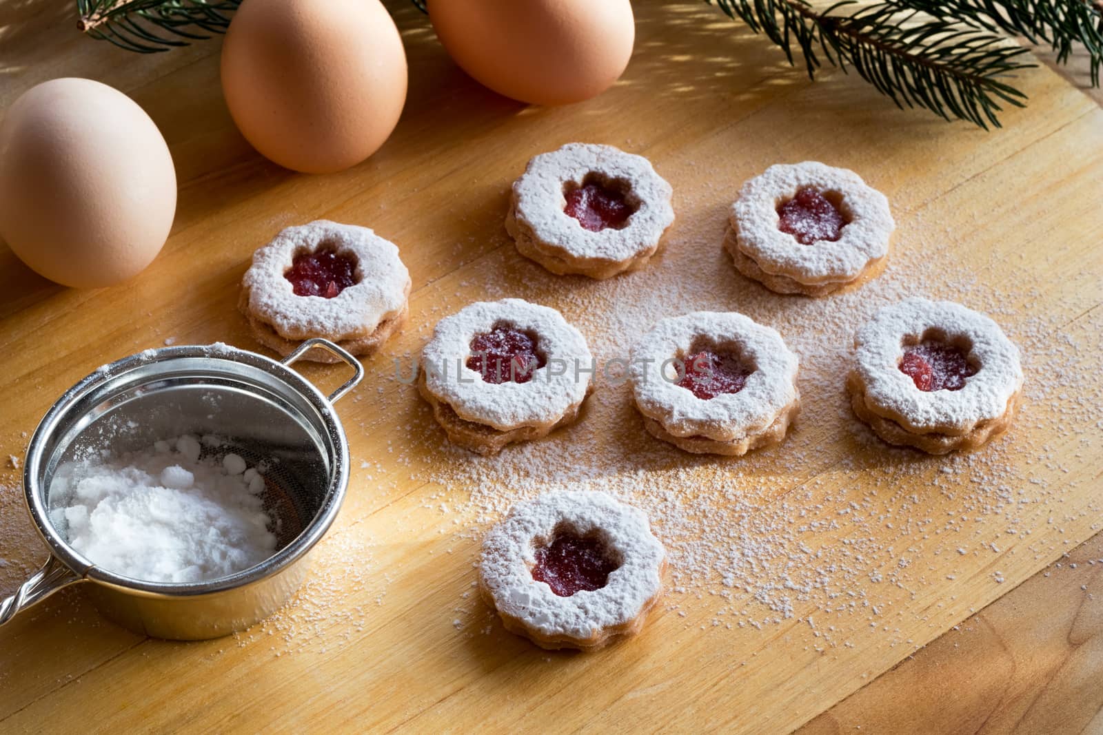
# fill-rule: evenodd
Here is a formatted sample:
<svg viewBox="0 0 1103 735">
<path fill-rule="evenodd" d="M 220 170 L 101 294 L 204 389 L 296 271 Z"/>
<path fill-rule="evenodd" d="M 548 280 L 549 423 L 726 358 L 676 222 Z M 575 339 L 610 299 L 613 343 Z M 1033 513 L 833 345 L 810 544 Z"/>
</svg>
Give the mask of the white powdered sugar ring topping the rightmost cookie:
<svg viewBox="0 0 1103 735">
<path fill-rule="evenodd" d="M 915 390 L 897 365 L 907 337 L 968 341 L 981 370 L 961 390 Z M 912 298 L 878 311 L 855 336 L 855 371 L 870 408 L 909 431 L 970 431 L 1004 415 L 1022 386 L 1019 350 L 992 318 L 950 301 Z"/>
</svg>

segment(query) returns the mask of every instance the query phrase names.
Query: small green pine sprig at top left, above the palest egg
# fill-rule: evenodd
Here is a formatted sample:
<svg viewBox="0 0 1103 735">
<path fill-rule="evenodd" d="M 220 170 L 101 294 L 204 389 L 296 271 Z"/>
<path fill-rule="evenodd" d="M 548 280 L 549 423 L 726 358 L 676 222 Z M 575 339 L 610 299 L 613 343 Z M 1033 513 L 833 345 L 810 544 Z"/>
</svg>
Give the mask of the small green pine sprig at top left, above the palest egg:
<svg viewBox="0 0 1103 735">
<path fill-rule="evenodd" d="M 77 26 L 120 48 L 151 54 L 225 33 L 240 0 L 77 0 Z"/>
</svg>

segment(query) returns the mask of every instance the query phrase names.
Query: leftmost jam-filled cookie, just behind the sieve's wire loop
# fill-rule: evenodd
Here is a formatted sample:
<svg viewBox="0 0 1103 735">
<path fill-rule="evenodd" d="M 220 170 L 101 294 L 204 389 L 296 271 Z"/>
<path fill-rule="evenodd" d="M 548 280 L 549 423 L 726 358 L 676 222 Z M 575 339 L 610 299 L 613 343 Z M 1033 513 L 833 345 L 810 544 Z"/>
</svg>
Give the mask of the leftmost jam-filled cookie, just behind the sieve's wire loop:
<svg viewBox="0 0 1103 735">
<path fill-rule="evenodd" d="M 238 306 L 257 342 L 280 355 L 312 337 L 371 355 L 406 321 L 409 292 L 393 242 L 366 227 L 318 219 L 281 230 L 253 253 Z M 306 357 L 338 359 L 321 349 Z"/>
</svg>

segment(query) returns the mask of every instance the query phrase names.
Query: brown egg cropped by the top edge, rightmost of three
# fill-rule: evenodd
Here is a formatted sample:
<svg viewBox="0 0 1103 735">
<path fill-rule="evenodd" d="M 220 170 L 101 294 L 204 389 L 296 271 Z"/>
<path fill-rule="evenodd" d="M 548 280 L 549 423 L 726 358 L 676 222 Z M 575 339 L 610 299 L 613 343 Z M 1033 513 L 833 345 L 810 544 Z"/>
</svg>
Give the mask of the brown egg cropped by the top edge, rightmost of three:
<svg viewBox="0 0 1103 735">
<path fill-rule="evenodd" d="M 437 37 L 494 91 L 536 105 L 593 97 L 624 72 L 629 0 L 429 0 Z"/>
</svg>

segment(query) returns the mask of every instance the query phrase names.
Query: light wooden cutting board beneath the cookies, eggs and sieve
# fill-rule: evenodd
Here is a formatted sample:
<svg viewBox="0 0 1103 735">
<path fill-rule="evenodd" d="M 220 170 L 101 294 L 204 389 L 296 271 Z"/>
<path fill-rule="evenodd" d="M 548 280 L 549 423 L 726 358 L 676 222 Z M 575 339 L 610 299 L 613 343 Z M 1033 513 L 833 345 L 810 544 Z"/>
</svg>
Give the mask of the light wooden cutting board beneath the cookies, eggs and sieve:
<svg viewBox="0 0 1103 735">
<path fill-rule="evenodd" d="M 65 591 L 0 630 L 2 732 L 785 732 L 1100 528 L 1103 111 L 1048 69 L 1021 76 L 1030 107 L 986 133 L 898 111 L 838 72 L 812 84 L 703 3 L 641 2 L 635 56 L 613 89 L 527 109 L 468 79 L 427 20 L 394 3 L 411 80 L 398 129 L 365 164 L 303 176 L 234 130 L 217 41 L 132 56 L 78 37 L 68 3 L 39 4 L 0 2 L 0 105 L 55 76 L 113 84 L 161 127 L 181 192 L 164 251 L 122 287 L 61 289 L 0 250 L 0 454 L 21 456 L 23 432 L 105 361 L 167 339 L 255 348 L 237 283 L 283 226 L 375 228 L 400 246 L 414 293 L 406 331 L 338 407 L 352 484 L 297 602 L 240 636 L 175 644 L 118 628 Z M 639 273 L 556 279 L 503 230 L 525 161 L 572 140 L 647 155 L 674 185 L 678 219 Z M 740 183 L 808 159 L 861 173 L 898 221 L 888 272 L 821 302 L 764 292 L 720 249 Z M 988 311 L 1026 353 L 1022 413 L 981 452 L 889 451 L 849 418 L 846 335 L 910 293 Z M 577 426 L 475 462 L 445 446 L 394 379 L 394 359 L 416 354 L 440 316 L 503 295 L 559 307 L 607 357 L 662 315 L 745 311 L 800 352 L 804 419 L 774 450 L 689 457 L 644 434 L 622 387 L 599 387 Z M 343 379 L 340 368 L 306 371 L 326 387 Z M 543 486 L 534 469 L 652 512 L 676 588 L 639 638 L 548 653 L 471 594 L 481 531 Z M 0 474 L 3 594 L 43 556 L 18 482 Z"/>
</svg>

